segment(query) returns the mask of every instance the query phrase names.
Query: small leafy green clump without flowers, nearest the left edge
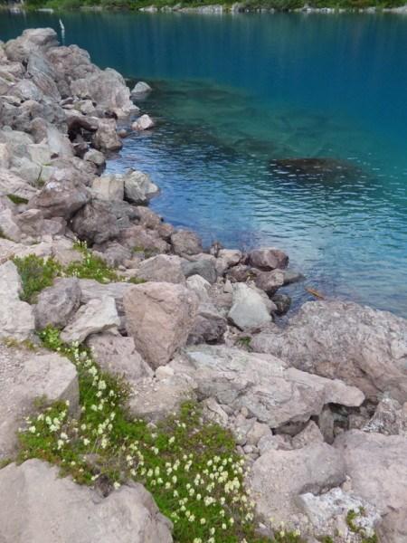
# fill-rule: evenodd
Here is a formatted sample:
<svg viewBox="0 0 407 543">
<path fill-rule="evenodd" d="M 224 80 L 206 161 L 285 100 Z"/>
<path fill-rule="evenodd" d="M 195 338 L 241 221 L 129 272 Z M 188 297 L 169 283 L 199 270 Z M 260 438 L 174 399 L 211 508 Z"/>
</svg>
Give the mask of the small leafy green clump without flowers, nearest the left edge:
<svg viewBox="0 0 407 543">
<path fill-rule="evenodd" d="M 23 287 L 20 298 L 28 303 L 34 303 L 38 293 L 51 287 L 55 277 L 62 272 L 61 264 L 52 258 L 45 260 L 36 254 L 14 257 L 13 262 L 20 273 Z"/>
</svg>

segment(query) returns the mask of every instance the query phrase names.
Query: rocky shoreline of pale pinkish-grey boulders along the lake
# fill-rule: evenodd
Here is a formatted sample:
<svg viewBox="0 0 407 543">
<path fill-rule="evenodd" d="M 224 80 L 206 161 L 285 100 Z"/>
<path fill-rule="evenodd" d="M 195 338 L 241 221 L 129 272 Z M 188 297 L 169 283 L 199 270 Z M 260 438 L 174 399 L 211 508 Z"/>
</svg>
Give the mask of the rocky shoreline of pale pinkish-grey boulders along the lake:
<svg viewBox="0 0 407 543">
<path fill-rule="evenodd" d="M 266 538 L 250 540 L 407 541 L 407 321 L 320 300 L 281 327 L 289 297 L 279 288 L 301 280 L 287 254 L 204 250 L 148 209 L 159 187 L 147 174 L 103 175 L 129 130 L 154 129 L 134 103 L 150 90 L 130 91 L 52 29 L 0 43 L 0 539 L 173 540 L 142 475 L 103 496 L 58 478 L 44 461 L 58 464 L 68 430 L 53 455 L 36 448 L 14 463 L 19 429 L 41 438 L 36 398 L 67 402 L 63 417 L 80 420 L 91 352 L 126 379 L 128 412 L 146 428 L 188 400 L 202 424 L 232 432 Z M 95 471 L 94 457 L 83 465 Z M 208 481 L 223 481 L 217 473 Z M 169 514 L 176 525 L 184 502 Z M 208 533 L 194 543 L 238 540 Z"/>
</svg>

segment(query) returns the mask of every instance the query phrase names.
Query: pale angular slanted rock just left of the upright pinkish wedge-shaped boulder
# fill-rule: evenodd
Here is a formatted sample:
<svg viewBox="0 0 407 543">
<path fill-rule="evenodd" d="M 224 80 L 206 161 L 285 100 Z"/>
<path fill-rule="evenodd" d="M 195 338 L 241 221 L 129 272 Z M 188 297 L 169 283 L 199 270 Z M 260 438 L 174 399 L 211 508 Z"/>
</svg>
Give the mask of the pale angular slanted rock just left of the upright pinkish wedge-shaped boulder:
<svg viewBox="0 0 407 543">
<path fill-rule="evenodd" d="M 61 338 L 66 343 L 81 343 L 90 334 L 115 330 L 120 325 L 116 302 L 110 296 L 90 300 L 77 311 L 71 323 L 62 330 Z"/>
</svg>

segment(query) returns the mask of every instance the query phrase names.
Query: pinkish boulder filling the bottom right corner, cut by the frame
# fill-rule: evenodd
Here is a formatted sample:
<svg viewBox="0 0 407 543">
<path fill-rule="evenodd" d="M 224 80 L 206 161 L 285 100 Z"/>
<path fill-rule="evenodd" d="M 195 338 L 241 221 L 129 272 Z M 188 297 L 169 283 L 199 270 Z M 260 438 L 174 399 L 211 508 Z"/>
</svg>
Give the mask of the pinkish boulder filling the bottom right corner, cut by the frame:
<svg viewBox="0 0 407 543">
<path fill-rule="evenodd" d="M 400 435 L 345 432 L 336 438 L 355 495 L 371 503 L 383 517 L 380 541 L 407 539 L 407 439 Z"/>
</svg>

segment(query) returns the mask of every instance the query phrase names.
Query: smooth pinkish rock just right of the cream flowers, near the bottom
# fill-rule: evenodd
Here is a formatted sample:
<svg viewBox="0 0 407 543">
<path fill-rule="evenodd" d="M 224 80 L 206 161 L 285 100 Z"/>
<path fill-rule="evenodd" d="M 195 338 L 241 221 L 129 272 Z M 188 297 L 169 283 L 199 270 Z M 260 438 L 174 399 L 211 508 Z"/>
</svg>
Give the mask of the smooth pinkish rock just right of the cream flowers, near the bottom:
<svg viewBox="0 0 407 543">
<path fill-rule="evenodd" d="M 305 519 L 298 497 L 320 494 L 345 481 L 342 454 L 327 443 L 313 443 L 293 451 L 269 449 L 251 467 L 247 484 L 257 513 L 273 525 L 301 526 Z"/>
</svg>

